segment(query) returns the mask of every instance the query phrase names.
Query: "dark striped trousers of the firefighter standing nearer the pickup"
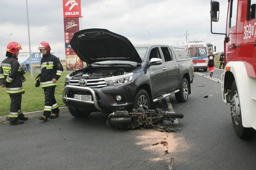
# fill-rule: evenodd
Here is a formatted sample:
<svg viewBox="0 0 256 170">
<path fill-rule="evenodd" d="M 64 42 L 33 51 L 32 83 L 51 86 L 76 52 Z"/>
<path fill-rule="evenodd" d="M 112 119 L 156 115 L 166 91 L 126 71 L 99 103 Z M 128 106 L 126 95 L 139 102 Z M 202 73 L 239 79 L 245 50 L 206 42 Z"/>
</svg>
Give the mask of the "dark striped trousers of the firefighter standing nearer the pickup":
<svg viewBox="0 0 256 170">
<path fill-rule="evenodd" d="M 44 89 L 44 113 L 43 115 L 50 118 L 52 113 L 59 113 L 59 107 L 54 96 L 55 87 Z"/>
</svg>

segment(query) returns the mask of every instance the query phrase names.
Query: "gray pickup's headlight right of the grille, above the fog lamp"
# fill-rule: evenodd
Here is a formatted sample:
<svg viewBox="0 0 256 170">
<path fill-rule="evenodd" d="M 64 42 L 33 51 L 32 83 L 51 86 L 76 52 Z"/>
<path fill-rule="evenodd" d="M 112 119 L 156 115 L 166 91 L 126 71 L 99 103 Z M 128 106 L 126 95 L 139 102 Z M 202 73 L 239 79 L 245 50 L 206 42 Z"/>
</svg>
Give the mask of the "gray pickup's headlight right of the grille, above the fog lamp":
<svg viewBox="0 0 256 170">
<path fill-rule="evenodd" d="M 132 80 L 133 80 L 133 73 L 105 78 L 106 84 L 108 85 L 126 84 L 128 82 L 131 82 Z"/>
</svg>

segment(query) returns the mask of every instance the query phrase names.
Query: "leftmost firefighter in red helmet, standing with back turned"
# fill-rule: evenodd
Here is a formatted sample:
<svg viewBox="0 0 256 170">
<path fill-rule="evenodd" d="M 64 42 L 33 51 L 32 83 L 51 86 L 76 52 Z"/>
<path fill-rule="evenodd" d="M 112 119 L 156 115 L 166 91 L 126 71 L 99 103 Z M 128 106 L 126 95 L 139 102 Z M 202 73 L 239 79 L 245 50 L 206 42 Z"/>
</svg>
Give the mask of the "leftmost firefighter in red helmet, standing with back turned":
<svg viewBox="0 0 256 170">
<path fill-rule="evenodd" d="M 26 81 L 23 68 L 18 62 L 18 55 L 21 46 L 17 42 L 10 42 L 7 45 L 6 59 L 3 60 L 0 67 L 0 84 L 6 87 L 6 91 L 11 98 L 10 104 L 10 125 L 23 124 L 28 120 L 27 116 L 21 111 L 21 95 L 25 93 L 22 82 Z"/>
</svg>

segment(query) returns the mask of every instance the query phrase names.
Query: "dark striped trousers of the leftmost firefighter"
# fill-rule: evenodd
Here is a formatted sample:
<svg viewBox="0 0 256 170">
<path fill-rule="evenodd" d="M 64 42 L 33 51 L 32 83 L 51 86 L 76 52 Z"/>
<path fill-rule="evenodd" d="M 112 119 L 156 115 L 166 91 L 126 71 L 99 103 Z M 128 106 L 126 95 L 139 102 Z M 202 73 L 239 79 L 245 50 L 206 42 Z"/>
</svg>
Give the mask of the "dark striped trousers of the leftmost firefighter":
<svg viewBox="0 0 256 170">
<path fill-rule="evenodd" d="M 23 119 L 24 115 L 21 111 L 21 98 L 22 94 L 19 95 L 10 95 L 11 104 L 10 104 L 10 113 L 9 118 L 10 122 L 18 122 L 19 119 Z"/>
</svg>

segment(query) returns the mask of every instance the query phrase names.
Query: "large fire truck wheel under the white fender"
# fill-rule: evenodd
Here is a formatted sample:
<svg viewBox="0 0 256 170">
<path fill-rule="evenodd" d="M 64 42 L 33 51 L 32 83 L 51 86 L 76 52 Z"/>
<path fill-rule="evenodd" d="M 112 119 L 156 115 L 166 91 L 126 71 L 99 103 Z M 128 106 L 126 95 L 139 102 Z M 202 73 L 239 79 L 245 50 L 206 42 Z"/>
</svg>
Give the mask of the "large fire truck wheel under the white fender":
<svg viewBox="0 0 256 170">
<path fill-rule="evenodd" d="M 231 86 L 230 109 L 233 127 L 237 136 L 239 138 L 251 138 L 255 136 L 255 130 L 253 128 L 245 128 L 242 125 L 240 102 L 235 80 L 233 81 L 233 84 Z"/>
</svg>

